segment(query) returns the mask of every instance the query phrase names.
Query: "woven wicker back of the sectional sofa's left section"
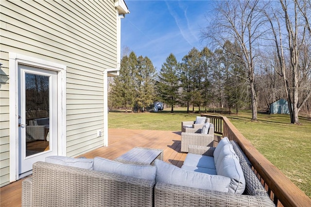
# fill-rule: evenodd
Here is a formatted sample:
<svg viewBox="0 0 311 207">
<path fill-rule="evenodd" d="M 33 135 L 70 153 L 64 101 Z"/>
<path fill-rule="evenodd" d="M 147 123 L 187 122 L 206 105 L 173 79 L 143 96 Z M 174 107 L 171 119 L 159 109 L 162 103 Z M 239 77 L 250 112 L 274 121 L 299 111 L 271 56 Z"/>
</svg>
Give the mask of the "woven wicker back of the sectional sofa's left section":
<svg viewBox="0 0 311 207">
<path fill-rule="evenodd" d="M 32 177 L 33 207 L 153 206 L 155 181 L 45 162 L 33 165 Z"/>
</svg>

